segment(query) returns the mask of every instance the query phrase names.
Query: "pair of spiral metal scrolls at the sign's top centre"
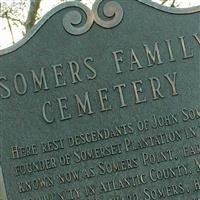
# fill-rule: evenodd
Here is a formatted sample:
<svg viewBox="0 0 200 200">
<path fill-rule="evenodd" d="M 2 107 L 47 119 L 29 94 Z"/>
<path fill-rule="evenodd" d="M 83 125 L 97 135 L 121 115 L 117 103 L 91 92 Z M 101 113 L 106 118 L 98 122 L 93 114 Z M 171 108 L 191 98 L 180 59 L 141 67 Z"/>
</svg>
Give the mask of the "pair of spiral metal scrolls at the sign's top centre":
<svg viewBox="0 0 200 200">
<path fill-rule="evenodd" d="M 99 17 L 99 12 L 101 5 L 103 5 L 103 15 L 108 18 L 108 20 L 103 20 Z M 67 12 L 63 18 L 63 26 L 65 30 L 72 35 L 81 35 L 86 33 L 96 22 L 103 28 L 113 28 L 117 26 L 123 19 L 123 9 L 119 3 L 116 1 L 110 0 L 109 2 L 104 3 L 104 0 L 97 0 L 92 10 L 82 3 L 76 4 L 76 6 L 84 12 L 86 15 L 86 22 L 84 25 L 80 25 L 83 19 L 83 16 L 77 10 L 71 10 Z M 80 27 L 78 26 L 80 25 Z"/>
</svg>

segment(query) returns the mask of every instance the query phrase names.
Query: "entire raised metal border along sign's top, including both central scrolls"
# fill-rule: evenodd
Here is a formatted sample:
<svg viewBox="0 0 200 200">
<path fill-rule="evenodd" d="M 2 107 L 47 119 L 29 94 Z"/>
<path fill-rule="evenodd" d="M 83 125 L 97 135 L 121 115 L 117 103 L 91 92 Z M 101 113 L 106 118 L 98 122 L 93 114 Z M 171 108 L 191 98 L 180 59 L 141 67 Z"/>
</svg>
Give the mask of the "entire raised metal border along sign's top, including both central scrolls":
<svg viewBox="0 0 200 200">
<path fill-rule="evenodd" d="M 140 2 L 144 5 L 150 6 L 154 9 L 172 13 L 172 14 L 192 14 L 200 12 L 200 6 L 191 7 L 191 8 L 168 8 L 165 6 L 161 6 L 157 3 L 152 2 L 151 0 L 132 0 Z M 105 18 L 108 18 L 108 20 L 104 21 L 99 17 L 99 11 L 103 4 L 103 14 Z M 76 8 L 74 11 L 69 11 L 69 13 L 66 13 L 63 18 L 63 26 L 65 30 L 71 34 L 74 35 L 80 35 L 83 33 L 86 33 L 91 27 L 94 22 L 96 22 L 98 25 L 104 27 L 104 28 L 112 28 L 117 26 L 122 18 L 123 18 L 123 9 L 120 6 L 118 2 L 115 0 L 110 0 L 110 2 L 104 3 L 104 0 L 96 0 L 96 2 L 93 5 L 92 11 L 87 8 L 85 5 L 83 5 L 80 2 L 77 1 L 71 1 L 71 2 L 65 2 L 63 4 L 58 5 L 57 7 L 53 8 L 51 11 L 49 11 L 42 19 L 34 25 L 34 27 L 31 29 L 31 31 L 19 42 L 14 44 L 11 47 L 8 47 L 6 49 L 0 50 L 0 56 L 8 53 L 12 53 L 16 51 L 18 48 L 23 46 L 25 43 L 27 43 L 37 32 L 38 30 L 57 12 L 65 9 L 65 8 Z M 82 12 L 78 12 L 77 8 L 80 9 L 82 12 L 86 15 L 86 22 L 81 27 L 82 22 Z M 70 16 L 71 15 L 71 16 Z M 66 18 L 68 17 L 68 19 Z"/>
</svg>

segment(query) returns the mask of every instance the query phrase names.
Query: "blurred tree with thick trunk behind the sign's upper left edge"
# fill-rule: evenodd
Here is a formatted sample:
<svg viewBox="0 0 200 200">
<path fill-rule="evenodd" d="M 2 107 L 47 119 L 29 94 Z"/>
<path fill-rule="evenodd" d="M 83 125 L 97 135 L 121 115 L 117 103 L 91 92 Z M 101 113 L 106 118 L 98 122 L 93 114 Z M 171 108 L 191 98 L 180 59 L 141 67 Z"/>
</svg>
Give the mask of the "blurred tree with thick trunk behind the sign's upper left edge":
<svg viewBox="0 0 200 200">
<path fill-rule="evenodd" d="M 13 44 L 16 42 L 14 33 L 16 29 L 25 35 L 42 17 L 44 14 L 42 7 L 45 6 L 45 1 L 46 4 L 50 2 L 48 0 L 0 0 L 0 20 L 5 24 L 4 29 L 9 29 Z M 51 7 L 64 1 L 67 0 L 51 0 Z M 43 5 L 42 2 L 44 2 Z"/>
</svg>

